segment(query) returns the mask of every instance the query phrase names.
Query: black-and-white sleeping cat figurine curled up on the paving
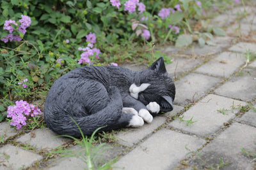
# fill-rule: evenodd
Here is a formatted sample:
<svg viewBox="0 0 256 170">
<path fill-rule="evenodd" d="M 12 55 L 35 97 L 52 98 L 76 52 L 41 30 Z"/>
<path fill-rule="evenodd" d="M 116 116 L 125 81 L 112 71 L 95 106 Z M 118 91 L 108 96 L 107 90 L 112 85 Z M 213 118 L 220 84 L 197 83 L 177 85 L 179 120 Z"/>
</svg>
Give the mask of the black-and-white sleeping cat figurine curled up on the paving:
<svg viewBox="0 0 256 170">
<path fill-rule="evenodd" d="M 80 138 L 71 119 L 90 135 L 121 127 L 140 127 L 160 112 L 173 110 L 175 85 L 163 57 L 148 69 L 131 71 L 118 66 L 83 66 L 54 82 L 47 95 L 44 118 L 57 134 Z"/>
</svg>

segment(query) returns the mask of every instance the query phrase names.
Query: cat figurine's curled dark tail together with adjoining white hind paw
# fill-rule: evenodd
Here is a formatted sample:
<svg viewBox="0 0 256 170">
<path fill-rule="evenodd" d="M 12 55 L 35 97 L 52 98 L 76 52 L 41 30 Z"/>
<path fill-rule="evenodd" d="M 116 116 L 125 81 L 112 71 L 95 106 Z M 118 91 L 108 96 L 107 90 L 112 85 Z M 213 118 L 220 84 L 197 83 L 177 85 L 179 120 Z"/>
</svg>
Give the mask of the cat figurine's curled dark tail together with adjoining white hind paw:
<svg viewBox="0 0 256 170">
<path fill-rule="evenodd" d="M 85 117 L 72 117 L 79 125 L 84 135 L 92 134 L 97 128 L 103 127 L 100 131 L 111 131 L 112 129 L 119 129 L 120 127 L 132 126 L 132 124 L 143 125 L 142 118 L 134 113 L 122 113 L 123 103 L 119 90 L 116 87 L 109 87 L 108 89 L 109 103 L 108 106 L 92 115 Z M 50 111 L 50 110 L 46 110 Z M 58 115 L 56 117 L 56 115 Z M 58 134 L 65 134 L 74 136 L 75 138 L 81 137 L 77 125 L 72 118 L 67 114 L 45 114 L 45 122 L 52 131 Z M 141 123 L 142 121 L 142 123 Z"/>
</svg>

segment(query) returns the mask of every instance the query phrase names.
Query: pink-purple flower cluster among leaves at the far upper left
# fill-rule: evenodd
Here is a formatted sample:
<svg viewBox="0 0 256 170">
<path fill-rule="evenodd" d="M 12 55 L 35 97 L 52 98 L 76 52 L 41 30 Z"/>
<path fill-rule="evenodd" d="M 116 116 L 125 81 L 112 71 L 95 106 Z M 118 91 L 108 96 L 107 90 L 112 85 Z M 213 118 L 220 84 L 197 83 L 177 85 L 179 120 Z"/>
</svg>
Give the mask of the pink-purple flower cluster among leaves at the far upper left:
<svg viewBox="0 0 256 170">
<path fill-rule="evenodd" d="M 20 31 L 23 33 L 23 35 L 27 32 L 26 28 L 29 27 L 29 25 L 31 24 L 31 18 L 26 16 L 26 15 L 21 15 L 21 19 L 19 20 L 20 25 L 19 28 L 17 29 L 17 31 Z M 19 35 L 14 35 L 13 31 L 15 31 L 15 29 L 12 27 L 13 25 L 18 25 L 15 20 L 6 20 L 4 22 L 4 29 L 9 31 L 10 34 L 8 34 L 8 36 L 5 36 L 4 38 L 2 38 L 1 40 L 4 41 L 4 43 L 7 43 L 8 41 L 21 41 L 22 38 L 20 38 Z"/>
</svg>

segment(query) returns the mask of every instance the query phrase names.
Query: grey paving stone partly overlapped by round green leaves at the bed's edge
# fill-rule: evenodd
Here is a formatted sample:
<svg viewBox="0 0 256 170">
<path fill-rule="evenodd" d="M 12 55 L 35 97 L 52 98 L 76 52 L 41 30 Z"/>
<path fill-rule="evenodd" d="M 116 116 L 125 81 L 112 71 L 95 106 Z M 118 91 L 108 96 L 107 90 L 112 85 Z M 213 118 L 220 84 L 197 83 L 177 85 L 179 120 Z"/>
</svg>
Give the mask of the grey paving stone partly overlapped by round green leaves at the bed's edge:
<svg viewBox="0 0 256 170">
<path fill-rule="evenodd" d="M 221 50 L 223 50 L 224 48 L 227 48 L 231 44 L 232 39 L 233 38 L 228 36 L 214 36 L 211 41 L 216 43 L 216 45 L 205 45 L 203 48 L 200 48 L 198 43 L 194 43 L 193 45 L 191 45 L 191 48 L 188 48 L 188 50 L 185 50 L 182 53 L 187 55 L 212 55 L 214 53 L 221 52 Z"/>
</svg>

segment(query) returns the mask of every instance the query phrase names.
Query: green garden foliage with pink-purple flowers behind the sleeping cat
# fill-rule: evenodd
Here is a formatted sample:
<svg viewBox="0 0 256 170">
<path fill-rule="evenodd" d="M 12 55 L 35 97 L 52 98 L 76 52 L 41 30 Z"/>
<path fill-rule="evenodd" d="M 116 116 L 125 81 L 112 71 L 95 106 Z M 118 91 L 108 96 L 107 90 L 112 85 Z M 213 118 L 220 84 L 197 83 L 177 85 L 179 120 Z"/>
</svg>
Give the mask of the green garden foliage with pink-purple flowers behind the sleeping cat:
<svg viewBox="0 0 256 170">
<path fill-rule="evenodd" d="M 189 20 L 204 17 L 214 2 L 2 0 L 0 111 L 6 114 L 12 101 L 45 99 L 52 83 L 76 67 L 154 60 L 152 54 L 162 55 L 153 52 L 154 44 L 190 45 L 195 32 Z M 201 46 L 211 32 L 200 36 Z"/>
</svg>

